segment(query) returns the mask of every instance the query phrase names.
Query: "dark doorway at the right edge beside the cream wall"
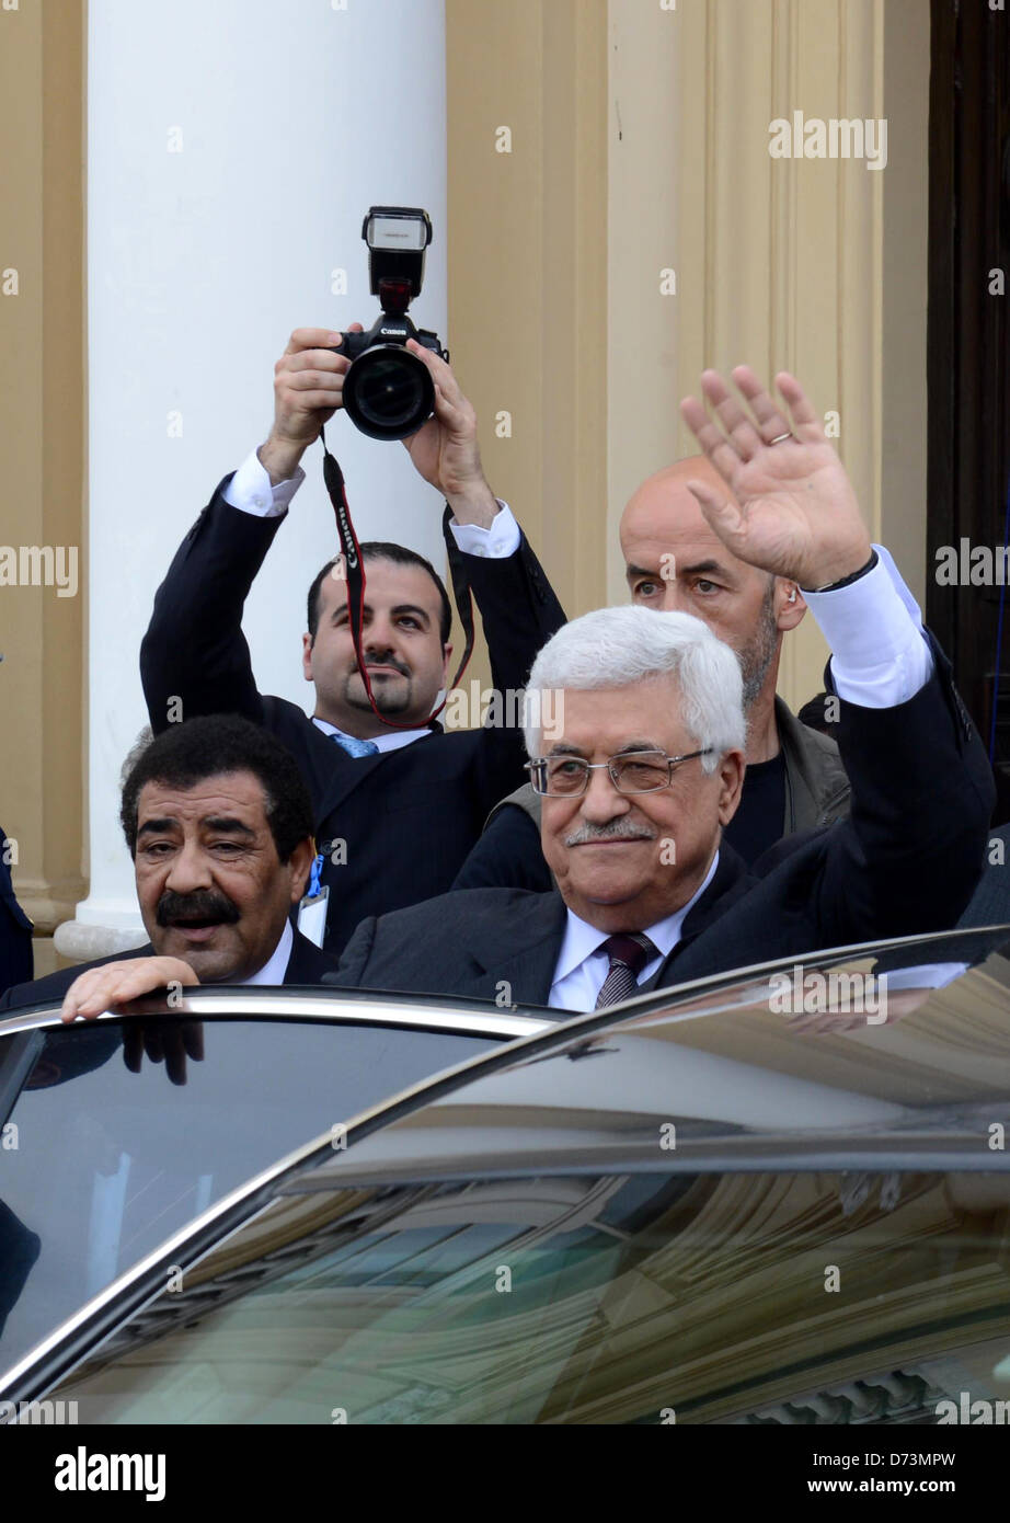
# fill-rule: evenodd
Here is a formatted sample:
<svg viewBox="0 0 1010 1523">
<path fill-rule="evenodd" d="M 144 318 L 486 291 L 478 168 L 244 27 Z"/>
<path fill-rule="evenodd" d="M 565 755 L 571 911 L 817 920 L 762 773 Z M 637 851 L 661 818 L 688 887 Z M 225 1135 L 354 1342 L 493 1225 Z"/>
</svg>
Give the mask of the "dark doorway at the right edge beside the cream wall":
<svg viewBox="0 0 1010 1523">
<path fill-rule="evenodd" d="M 995 573 L 1004 564 L 1008 303 L 1010 9 L 932 0 L 926 617 L 995 743 L 999 824 L 1010 819 L 1010 586 L 940 585 L 937 550 L 969 565 L 967 541 L 964 551 L 989 547 Z M 986 574 L 981 557 L 973 574 Z"/>
</svg>

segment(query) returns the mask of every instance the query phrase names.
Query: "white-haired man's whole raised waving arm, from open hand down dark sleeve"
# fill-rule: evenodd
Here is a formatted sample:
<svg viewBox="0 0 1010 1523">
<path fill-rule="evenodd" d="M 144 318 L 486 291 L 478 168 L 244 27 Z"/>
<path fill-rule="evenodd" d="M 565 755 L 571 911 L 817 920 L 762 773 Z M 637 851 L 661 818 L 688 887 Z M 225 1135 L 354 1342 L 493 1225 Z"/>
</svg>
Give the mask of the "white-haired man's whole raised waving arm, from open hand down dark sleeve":
<svg viewBox="0 0 1010 1523">
<path fill-rule="evenodd" d="M 705 370 L 704 401 L 681 402 L 711 465 L 689 489 L 728 550 L 803 591 L 832 649 L 852 783 L 849 819 L 798 844 L 754 914 L 774 906 L 786 934 L 795 914 L 797 934 L 818 946 L 952 926 L 981 873 L 995 798 L 986 752 L 943 652 L 870 544 L 820 410 L 789 372 L 774 394 L 746 366 L 731 379 L 733 390 Z"/>
</svg>

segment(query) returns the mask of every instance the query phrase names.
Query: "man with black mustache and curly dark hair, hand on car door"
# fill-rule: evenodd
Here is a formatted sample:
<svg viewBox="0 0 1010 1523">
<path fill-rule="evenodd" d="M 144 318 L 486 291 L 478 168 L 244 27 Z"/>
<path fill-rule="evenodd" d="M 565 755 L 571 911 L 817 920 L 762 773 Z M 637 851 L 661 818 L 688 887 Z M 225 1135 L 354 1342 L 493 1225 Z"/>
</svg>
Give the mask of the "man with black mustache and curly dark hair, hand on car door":
<svg viewBox="0 0 1010 1523">
<path fill-rule="evenodd" d="M 0 1008 L 62 996 L 72 1020 L 172 982 L 318 984 L 335 967 L 291 926 L 312 803 L 267 731 L 236 714 L 166 730 L 133 763 L 120 819 L 151 943 L 18 984 Z"/>
</svg>

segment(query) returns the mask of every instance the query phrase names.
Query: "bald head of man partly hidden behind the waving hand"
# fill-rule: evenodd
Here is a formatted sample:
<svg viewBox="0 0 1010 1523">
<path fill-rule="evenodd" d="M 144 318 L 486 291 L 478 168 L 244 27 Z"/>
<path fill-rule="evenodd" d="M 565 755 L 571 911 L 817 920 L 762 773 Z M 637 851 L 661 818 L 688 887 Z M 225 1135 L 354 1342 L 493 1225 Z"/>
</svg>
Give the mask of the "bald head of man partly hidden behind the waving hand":
<svg viewBox="0 0 1010 1523">
<path fill-rule="evenodd" d="M 743 667 L 743 696 L 774 693 L 781 635 L 806 612 L 792 582 L 771 577 L 737 559 L 722 544 L 687 489 L 710 481 L 733 493 L 705 455 L 678 460 L 643 481 L 620 521 L 632 600 L 646 608 L 679 609 L 704 618 L 733 646 Z"/>
</svg>

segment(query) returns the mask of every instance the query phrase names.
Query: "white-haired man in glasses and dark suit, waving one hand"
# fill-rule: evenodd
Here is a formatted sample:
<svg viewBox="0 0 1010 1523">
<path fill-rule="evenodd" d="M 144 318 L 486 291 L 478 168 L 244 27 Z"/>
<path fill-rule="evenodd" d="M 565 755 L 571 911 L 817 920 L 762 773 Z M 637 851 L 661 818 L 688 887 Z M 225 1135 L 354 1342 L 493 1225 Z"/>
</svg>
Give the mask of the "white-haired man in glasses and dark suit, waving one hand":
<svg viewBox="0 0 1010 1523">
<path fill-rule="evenodd" d="M 789 577 L 832 649 L 852 813 L 759 864 L 722 841 L 743 781 L 734 652 L 689 614 L 608 608 L 530 673 L 527 731 L 556 892 L 481 888 L 364 920 L 326 982 L 591 1010 L 646 987 L 954 926 L 983 867 L 986 755 L 943 652 L 800 384 L 705 372 L 684 417 L 718 475 L 689 483 L 740 560 Z M 718 483 L 725 483 L 724 495 Z"/>
</svg>

